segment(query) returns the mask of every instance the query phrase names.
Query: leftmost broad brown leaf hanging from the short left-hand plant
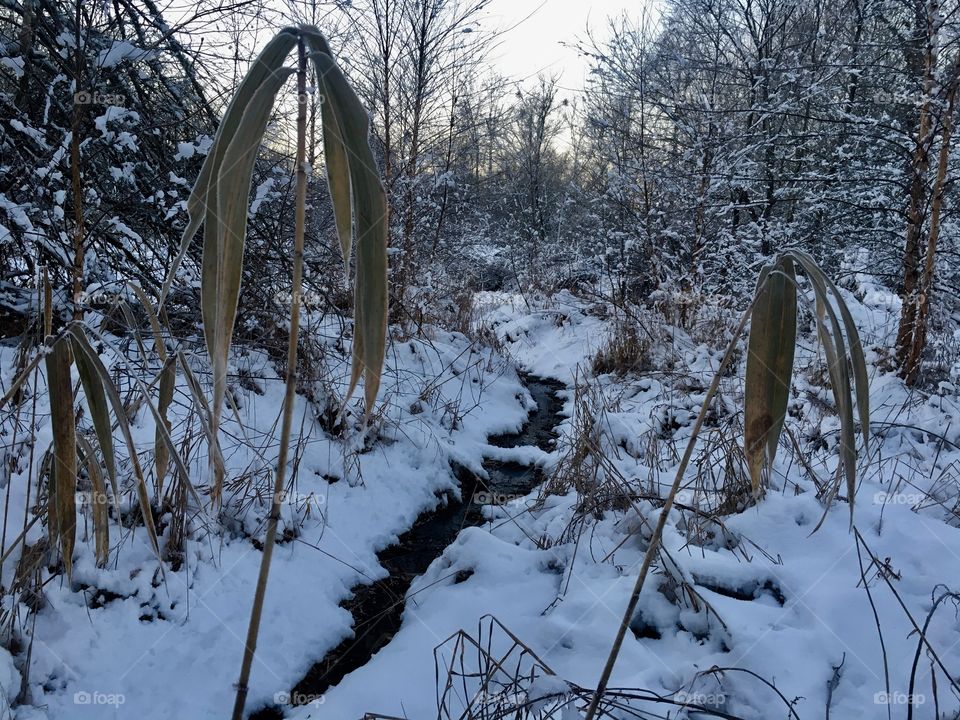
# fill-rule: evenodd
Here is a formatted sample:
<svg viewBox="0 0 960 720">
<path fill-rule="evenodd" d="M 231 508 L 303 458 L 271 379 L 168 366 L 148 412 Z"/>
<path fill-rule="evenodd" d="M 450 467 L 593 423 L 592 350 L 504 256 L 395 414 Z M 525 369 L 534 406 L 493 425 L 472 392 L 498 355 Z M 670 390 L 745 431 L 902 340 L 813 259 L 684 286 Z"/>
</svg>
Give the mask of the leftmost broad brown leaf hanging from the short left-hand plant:
<svg viewBox="0 0 960 720">
<path fill-rule="evenodd" d="M 53 428 L 51 510 L 56 513 L 56 539 L 67 577 L 73 575 L 73 545 L 77 531 L 77 435 L 70 380 L 70 343 L 60 340 L 47 354 L 47 386 L 50 391 L 50 424 Z M 52 519 L 52 518 L 51 518 Z"/>
</svg>

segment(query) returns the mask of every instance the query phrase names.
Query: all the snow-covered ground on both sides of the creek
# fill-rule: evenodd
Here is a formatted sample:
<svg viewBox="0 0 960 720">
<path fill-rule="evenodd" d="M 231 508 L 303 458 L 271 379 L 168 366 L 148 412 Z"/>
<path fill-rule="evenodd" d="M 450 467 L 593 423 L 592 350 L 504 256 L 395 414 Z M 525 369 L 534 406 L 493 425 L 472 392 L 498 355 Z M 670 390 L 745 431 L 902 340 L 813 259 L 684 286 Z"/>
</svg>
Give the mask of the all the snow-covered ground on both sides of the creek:
<svg viewBox="0 0 960 720">
<path fill-rule="evenodd" d="M 748 501 L 736 471 L 742 368 L 725 379 L 611 687 L 742 718 L 820 718 L 828 705 L 836 718 L 906 717 L 911 695 L 914 717 L 954 717 L 960 709 L 960 693 L 939 666 L 960 674 L 960 603 L 939 606 L 914 669 L 915 624 L 924 625 L 946 590 L 960 589 L 960 400 L 949 383 L 939 395 L 911 395 L 884 370 L 895 298 L 868 277 L 846 295 L 871 368 L 872 438 L 855 504 L 862 541 L 849 527 L 846 498 L 825 509 L 817 497 L 816 482 L 828 482 L 836 468 L 837 425 L 807 337 L 787 422 L 803 462 L 784 438 L 769 490 Z M 495 652 L 519 642 L 535 653 L 538 659 L 511 655 L 510 673 L 493 678 L 539 674 L 524 688 L 528 697 L 562 694 L 565 683 L 596 684 L 659 513 L 655 498 L 672 482 L 723 349 L 708 347 L 706 320 L 687 333 L 651 313 L 645 320 L 657 370 L 594 377 L 590 357 L 616 327 L 609 308 L 566 293 L 485 293 L 477 313 L 510 360 L 439 331 L 431 340 L 394 342 L 376 442 L 356 428 L 346 440 L 331 439 L 315 426 L 311 406 L 298 405 L 307 441 L 285 506 L 297 537 L 275 553 L 248 707 L 282 696 L 349 635 L 351 618 L 339 602 L 364 578 L 381 577 L 376 552 L 455 487 L 450 461 L 482 471 L 483 457 L 496 452 L 487 436 L 520 426 L 530 399 L 511 363 L 568 386 L 556 450 L 545 458 L 530 453 L 551 478 L 550 492 L 491 507 L 489 523 L 463 530 L 414 581 L 392 641 L 322 699 L 288 712 L 422 719 L 438 716 L 441 695 L 452 717 L 468 703 L 503 701 L 491 695 L 496 684 L 478 697 L 476 677 L 442 693 L 452 667 L 480 669 L 475 648 L 453 652 L 466 636 Z M 335 334 L 325 326 L 311 332 Z M 11 357 L 4 348 L 4 372 Z M 339 357 L 330 353 L 329 377 L 337 382 L 346 374 Z M 252 380 L 235 388 L 245 428 L 233 421 L 224 428 L 236 439 L 228 447 L 231 474 L 264 485 L 282 383 L 262 356 L 238 356 L 235 365 Z M 49 441 L 44 432 L 41 448 Z M 151 445 L 153 425 L 143 412 L 137 435 Z M 585 447 L 592 452 L 577 452 Z M 205 465 L 204 456 L 192 458 L 198 482 Z M 14 493 L 26 483 L 21 469 Z M 722 503 L 727 512 L 714 515 Z M 16 502 L 11 507 L 16 512 Z M 44 607 L 24 623 L 24 641 L 33 637 L 32 704 L 17 717 L 225 717 L 260 559 L 249 534 L 262 517 L 254 507 L 233 534 L 196 530 L 186 562 L 165 576 L 142 530 L 131 537 L 114 528 L 103 570 L 84 537 L 75 586 L 116 595 L 92 603 L 93 590 L 78 592 L 60 577 L 47 584 Z M 8 530 L 8 544 L 18 532 Z M 41 534 L 31 530 L 33 539 Z M 490 615 L 503 627 L 484 620 Z M 542 679 L 551 674 L 557 679 Z M 9 680 L 3 687 L 15 694 L 18 681 Z M 667 705 L 634 706 L 676 716 Z M 579 716 L 572 705 L 567 711 L 565 719 Z"/>
</svg>

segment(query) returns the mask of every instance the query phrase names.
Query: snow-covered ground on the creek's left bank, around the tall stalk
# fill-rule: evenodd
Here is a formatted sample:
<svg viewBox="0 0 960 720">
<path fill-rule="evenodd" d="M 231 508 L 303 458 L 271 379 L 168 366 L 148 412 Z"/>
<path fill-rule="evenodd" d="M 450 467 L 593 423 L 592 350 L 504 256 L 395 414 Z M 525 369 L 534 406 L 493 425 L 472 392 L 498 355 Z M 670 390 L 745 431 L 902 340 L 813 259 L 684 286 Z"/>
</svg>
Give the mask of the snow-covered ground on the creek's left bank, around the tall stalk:
<svg viewBox="0 0 960 720">
<path fill-rule="evenodd" d="M 308 332 L 315 340 L 335 337 L 333 327 Z M 5 371 L 12 356 L 12 348 L 2 349 Z M 328 357 L 329 378 L 342 393 L 342 355 Z M 202 357 L 197 366 L 202 371 Z M 244 428 L 232 419 L 224 424 L 223 434 L 231 438 L 224 443 L 228 476 L 248 478 L 242 492 L 269 498 L 283 383 L 263 355 L 238 356 L 233 369 L 247 378 L 243 385 L 256 389 L 239 382 L 233 388 Z M 187 393 L 178 386 L 180 411 L 189 405 Z M 440 494 L 456 489 L 451 460 L 479 470 L 487 435 L 518 429 L 531 402 L 512 366 L 462 335 L 439 331 L 430 340 L 392 345 L 381 399 L 385 410 L 375 442 L 358 432 L 348 432 L 346 441 L 331 439 L 317 427 L 311 406 L 298 402 L 294 427 L 303 428 L 304 441 L 296 453 L 296 484 L 283 508 L 285 529 L 295 528 L 296 538 L 274 553 L 248 707 L 273 703 L 347 636 L 351 617 L 338 603 L 354 585 L 383 574 L 376 552 L 434 507 Z M 174 414 L 176 433 L 185 422 L 182 413 Z M 38 408 L 38 423 L 42 450 L 50 442 L 44 407 Z M 147 411 L 135 426 L 138 445 L 151 448 L 154 425 Z M 13 476 L 13 492 L 21 495 L 28 460 L 21 458 L 23 472 Z M 192 459 L 198 484 L 205 482 L 206 464 L 205 454 Z M 23 498 L 17 500 L 10 516 L 19 518 Z M 63 577 L 53 579 L 44 590 L 44 607 L 24 623 L 23 642 L 33 640 L 34 708 L 21 708 L 17 717 L 224 717 L 233 702 L 260 564 L 259 550 L 239 530 L 262 538 L 264 515 L 262 504 L 250 508 L 236 518 L 232 533 L 204 531 L 204 518 L 196 518 L 185 562 L 163 574 L 143 529 L 131 534 L 116 525 L 111 562 L 97 569 L 92 537 L 81 524 L 74 588 Z M 11 522 L 8 546 L 19 531 L 20 524 Z M 35 525 L 29 542 L 42 534 Z M 13 570 L 11 559 L 5 576 Z M 110 593 L 106 602 L 95 589 Z M 4 688 L 17 694 L 16 686 Z"/>
</svg>

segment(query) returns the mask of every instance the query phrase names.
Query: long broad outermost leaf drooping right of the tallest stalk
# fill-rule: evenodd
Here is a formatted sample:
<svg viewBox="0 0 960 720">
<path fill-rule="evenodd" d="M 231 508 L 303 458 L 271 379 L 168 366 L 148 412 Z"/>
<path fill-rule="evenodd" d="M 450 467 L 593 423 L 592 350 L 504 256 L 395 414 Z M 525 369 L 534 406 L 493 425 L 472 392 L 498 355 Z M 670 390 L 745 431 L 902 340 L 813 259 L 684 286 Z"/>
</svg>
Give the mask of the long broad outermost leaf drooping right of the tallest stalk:
<svg viewBox="0 0 960 720">
<path fill-rule="evenodd" d="M 349 398 L 360 375 L 369 413 L 380 389 L 387 338 L 387 200 L 369 144 L 369 118 L 333 58 L 312 53 L 326 104 L 342 131 L 350 165 L 356 222 L 357 279 L 354 288 L 354 347 Z M 324 128 L 324 133 L 327 129 Z"/>
</svg>

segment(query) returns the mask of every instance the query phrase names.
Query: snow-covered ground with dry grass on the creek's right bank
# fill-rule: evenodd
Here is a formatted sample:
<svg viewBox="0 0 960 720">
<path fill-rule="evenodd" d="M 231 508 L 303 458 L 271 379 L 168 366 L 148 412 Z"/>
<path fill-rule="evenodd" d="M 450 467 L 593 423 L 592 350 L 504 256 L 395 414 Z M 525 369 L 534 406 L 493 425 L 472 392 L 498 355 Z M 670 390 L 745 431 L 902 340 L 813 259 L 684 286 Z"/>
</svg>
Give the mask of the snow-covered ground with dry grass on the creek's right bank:
<svg viewBox="0 0 960 720">
<path fill-rule="evenodd" d="M 611 687 L 645 689 L 743 718 L 819 718 L 828 697 L 828 717 L 905 717 L 911 696 L 914 717 L 934 717 L 935 707 L 942 717 L 955 716 L 957 693 L 939 668 L 934 682 L 933 653 L 924 648 L 912 667 L 914 623 L 922 626 L 933 602 L 948 588 L 957 589 L 960 530 L 952 508 L 960 490 L 960 403 L 955 395 L 909 398 L 895 376 L 877 371 L 899 308 L 868 278 L 860 280 L 847 299 L 871 360 L 876 419 L 856 502 L 863 543 L 858 547 L 849 528 L 846 502 L 834 503 L 812 532 L 824 506 L 807 471 L 784 448 L 770 490 L 755 505 L 716 521 L 684 509 L 671 516 L 655 582 L 647 583 L 641 597 L 638 632 L 627 635 Z M 589 356 L 610 328 L 600 308 L 564 294 L 542 302 L 489 295 L 480 304 L 483 322 L 522 366 L 568 383 L 575 374 L 589 375 Z M 594 433 L 610 463 L 597 477 L 624 481 L 640 496 L 662 492 L 671 482 L 676 450 L 683 450 L 721 354 L 680 330 L 663 332 L 657 352 L 674 358 L 674 372 L 605 376 L 592 383 L 600 398 L 592 406 Z M 836 466 L 836 425 L 824 410 L 829 394 L 811 382 L 820 367 L 815 351 L 811 344 L 800 353 L 790 426 L 805 448 L 813 447 L 814 438 L 822 440 L 823 449 L 810 450 L 807 462 L 827 480 Z M 740 377 L 723 385 L 719 402 L 731 410 L 739 402 Z M 665 410 L 679 427 L 664 422 Z M 572 393 L 567 412 L 574 413 Z M 916 427 L 901 427 L 909 425 Z M 564 423 L 548 466 L 562 469 L 569 462 L 576 427 L 574 418 Z M 935 442 L 937 435 L 948 442 Z M 710 446 L 710 438 L 708 433 L 702 444 Z M 703 466 L 689 471 L 680 499 L 687 508 L 715 506 L 704 478 L 711 467 L 722 476 L 726 452 L 722 445 L 710 447 L 700 458 Z M 459 682 L 442 696 L 443 717 L 459 717 L 470 704 L 520 704 L 542 695 L 533 683 L 525 697 L 518 699 L 515 690 L 497 696 L 497 688 L 516 687 L 504 684 L 505 676 L 536 674 L 538 661 L 528 656 L 524 665 L 516 653 L 509 657 L 517 665 L 493 674 L 485 690 L 477 678 L 463 682 L 464 673 L 481 670 L 480 653 L 470 647 L 464 663 L 451 636 L 465 631 L 501 654 L 514 644 L 505 630 L 484 620 L 487 615 L 559 678 L 594 687 L 659 504 L 610 502 L 594 514 L 581 506 L 585 499 L 575 489 L 539 502 L 534 493 L 498 508 L 490 525 L 463 531 L 411 588 L 403 629 L 390 645 L 331 689 L 321 708 L 302 709 L 295 717 L 359 718 L 370 711 L 437 717 L 436 673 L 442 689 L 452 668 Z M 871 566 L 870 553 L 880 567 Z M 954 673 L 960 667 L 957 607 L 947 599 L 925 633 Z M 549 687 L 555 693 L 563 685 Z M 580 717 L 572 707 L 562 717 Z M 652 703 L 634 707 L 676 713 Z"/>
</svg>

